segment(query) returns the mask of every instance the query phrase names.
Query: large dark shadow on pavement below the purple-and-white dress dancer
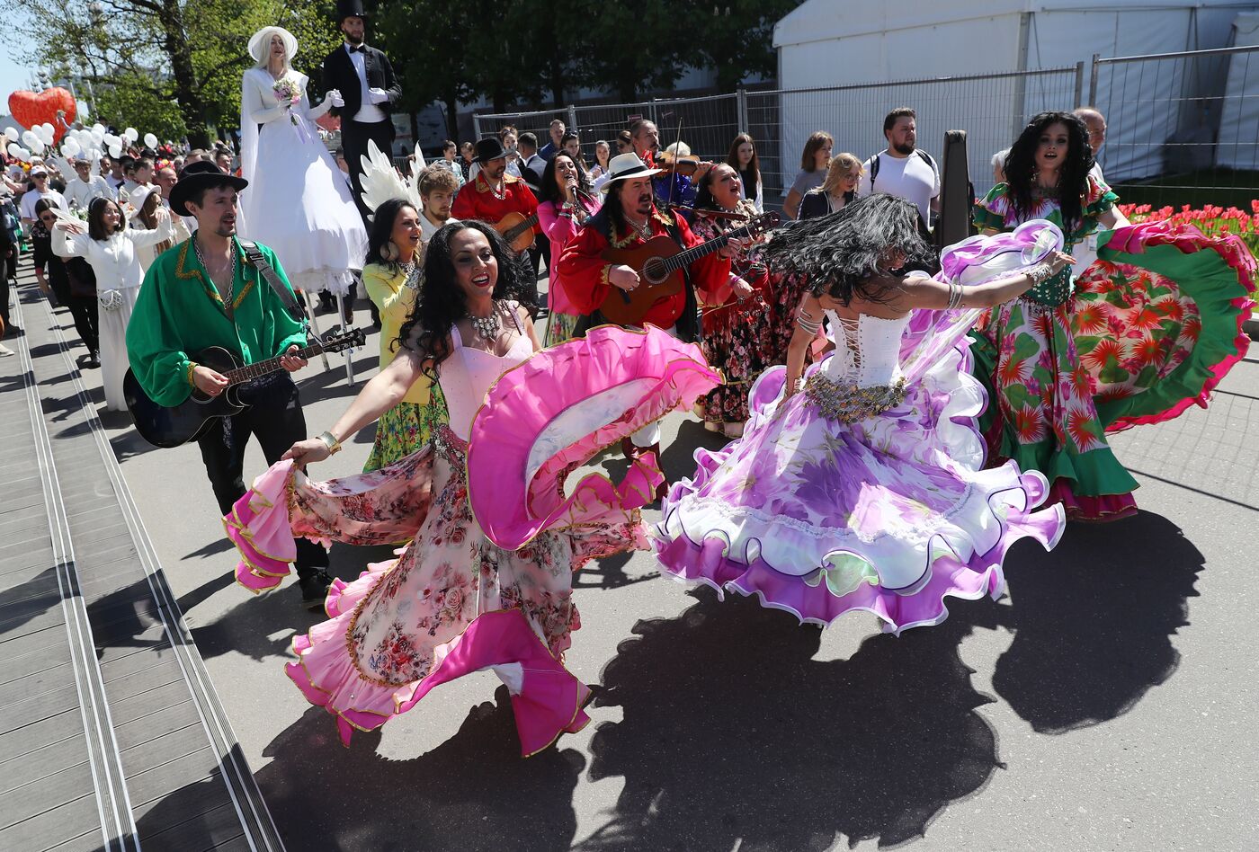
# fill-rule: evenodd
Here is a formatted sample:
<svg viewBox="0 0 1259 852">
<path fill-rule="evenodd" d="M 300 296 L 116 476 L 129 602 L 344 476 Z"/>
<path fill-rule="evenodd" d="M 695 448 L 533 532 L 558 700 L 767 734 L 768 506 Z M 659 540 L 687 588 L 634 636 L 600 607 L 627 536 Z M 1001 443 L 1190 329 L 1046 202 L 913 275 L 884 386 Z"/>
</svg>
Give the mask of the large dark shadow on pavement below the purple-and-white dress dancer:
<svg viewBox="0 0 1259 852">
<path fill-rule="evenodd" d="M 677 618 L 642 620 L 603 671 L 592 780 L 623 776 L 612 819 L 580 848 L 810 849 L 923 836 L 1001 766 L 958 643 L 996 625 L 962 602 L 944 624 L 874 636 L 815 661 L 821 631 L 710 590 Z M 968 620 L 969 619 L 969 620 Z"/>
</svg>

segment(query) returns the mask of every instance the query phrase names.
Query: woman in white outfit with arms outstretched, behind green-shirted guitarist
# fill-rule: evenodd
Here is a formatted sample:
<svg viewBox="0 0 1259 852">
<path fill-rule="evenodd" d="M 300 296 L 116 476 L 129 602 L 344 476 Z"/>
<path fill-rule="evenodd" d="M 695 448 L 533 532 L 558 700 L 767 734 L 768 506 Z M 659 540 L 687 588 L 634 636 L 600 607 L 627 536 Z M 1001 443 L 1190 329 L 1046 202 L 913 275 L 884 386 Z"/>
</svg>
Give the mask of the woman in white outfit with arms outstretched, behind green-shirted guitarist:
<svg viewBox="0 0 1259 852">
<path fill-rule="evenodd" d="M 87 229 L 60 219 L 53 233 L 57 257 L 84 258 L 96 273 L 96 297 L 101 303 L 101 379 L 106 408 L 127 410 L 122 378 L 127 375 L 127 322 L 145 278 L 136 250 L 170 239 L 175 230 L 170 214 L 159 209 L 152 230 L 127 228 L 122 208 L 113 199 L 98 198 L 87 209 Z"/>
</svg>

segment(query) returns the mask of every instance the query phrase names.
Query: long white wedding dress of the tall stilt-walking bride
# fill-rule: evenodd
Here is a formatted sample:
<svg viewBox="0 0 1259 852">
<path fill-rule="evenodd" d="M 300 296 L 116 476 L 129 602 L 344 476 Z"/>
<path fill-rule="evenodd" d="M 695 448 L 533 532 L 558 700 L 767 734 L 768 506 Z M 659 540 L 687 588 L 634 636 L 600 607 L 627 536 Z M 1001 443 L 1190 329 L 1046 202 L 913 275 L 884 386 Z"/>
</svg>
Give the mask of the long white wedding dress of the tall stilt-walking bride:
<svg viewBox="0 0 1259 852">
<path fill-rule="evenodd" d="M 351 271 L 363 269 L 368 234 L 315 126 L 331 99 L 311 109 L 307 77 L 290 69 L 282 79 L 301 88 L 292 108 L 279 104 L 267 69 L 251 68 L 242 79 L 240 176 L 249 186 L 238 232 L 271 247 L 295 288 L 345 294 Z"/>
</svg>

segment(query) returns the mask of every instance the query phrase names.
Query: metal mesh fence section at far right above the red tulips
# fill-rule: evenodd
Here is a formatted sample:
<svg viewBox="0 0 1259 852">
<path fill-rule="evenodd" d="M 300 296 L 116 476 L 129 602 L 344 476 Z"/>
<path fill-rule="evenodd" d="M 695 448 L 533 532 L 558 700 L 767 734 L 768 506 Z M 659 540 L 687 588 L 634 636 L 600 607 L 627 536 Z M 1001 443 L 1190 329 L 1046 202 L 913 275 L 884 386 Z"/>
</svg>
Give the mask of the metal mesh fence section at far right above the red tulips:
<svg viewBox="0 0 1259 852">
<path fill-rule="evenodd" d="M 1126 201 L 1250 211 L 1259 196 L 1259 47 L 1093 58 L 1098 161 Z"/>
</svg>

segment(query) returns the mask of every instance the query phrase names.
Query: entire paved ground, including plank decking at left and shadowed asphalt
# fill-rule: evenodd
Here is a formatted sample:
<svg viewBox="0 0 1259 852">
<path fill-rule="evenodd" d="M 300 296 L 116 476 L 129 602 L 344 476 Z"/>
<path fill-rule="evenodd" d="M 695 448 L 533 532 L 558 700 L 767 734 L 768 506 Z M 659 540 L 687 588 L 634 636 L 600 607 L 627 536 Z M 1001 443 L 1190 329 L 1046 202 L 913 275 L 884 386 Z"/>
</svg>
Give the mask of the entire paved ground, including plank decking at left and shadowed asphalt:
<svg viewBox="0 0 1259 852">
<path fill-rule="evenodd" d="M 1210 410 L 1114 437 L 1141 516 L 1071 525 L 1053 554 L 1021 542 L 1007 598 L 958 602 L 900 639 L 861 615 L 822 632 L 686 593 L 646 554 L 583 570 L 567 662 L 596 687 L 593 724 L 522 761 L 490 675 L 344 749 L 282 671 L 315 620 L 297 589 L 253 598 L 232 583 L 196 448 L 154 449 L 103 412 L 97 371 L 69 367 L 44 303 L 23 294 L 33 366 L 0 361 L 18 448 L 0 506 L 0 559 L 16 559 L 0 563 L 0 648 L 14 649 L 0 653 L 0 849 L 104 848 L 111 832 L 145 848 L 278 848 L 258 790 L 303 852 L 1259 848 L 1259 362 L 1238 365 Z M 375 351 L 355 356 L 360 380 Z M 355 391 L 337 366 L 301 374 L 312 433 Z M 666 472 L 690 473 L 692 451 L 716 443 L 670 418 Z M 354 472 L 369 448 L 370 430 L 319 474 Z M 263 469 L 256 451 L 247 464 Z M 108 520 L 77 522 L 96 500 Z M 337 546 L 334 571 L 387 556 Z M 37 710 L 16 688 L 60 691 Z M 117 710 L 164 690 L 184 697 L 150 710 L 199 715 Z M 86 787 L 92 766 L 122 782 L 98 769 Z"/>
</svg>

